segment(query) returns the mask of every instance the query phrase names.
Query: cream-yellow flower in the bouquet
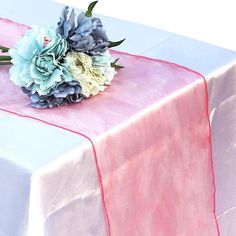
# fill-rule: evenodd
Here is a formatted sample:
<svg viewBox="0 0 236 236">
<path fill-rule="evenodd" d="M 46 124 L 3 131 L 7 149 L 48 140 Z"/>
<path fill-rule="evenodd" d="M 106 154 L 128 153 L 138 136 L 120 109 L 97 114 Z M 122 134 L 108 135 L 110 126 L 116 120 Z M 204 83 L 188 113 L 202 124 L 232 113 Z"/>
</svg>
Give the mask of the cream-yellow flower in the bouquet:
<svg viewBox="0 0 236 236">
<path fill-rule="evenodd" d="M 92 58 L 85 53 L 69 52 L 65 58 L 65 63 L 74 79 L 79 81 L 82 88 L 81 94 L 87 98 L 104 91 L 105 85 L 111 81 L 111 76 L 106 77 L 107 74 L 103 73 L 108 67 L 107 64 L 98 66 L 99 62 L 97 61 L 97 65 L 93 65 Z M 109 67 L 111 66 L 109 65 Z M 113 68 L 112 71 L 114 76 Z"/>
</svg>

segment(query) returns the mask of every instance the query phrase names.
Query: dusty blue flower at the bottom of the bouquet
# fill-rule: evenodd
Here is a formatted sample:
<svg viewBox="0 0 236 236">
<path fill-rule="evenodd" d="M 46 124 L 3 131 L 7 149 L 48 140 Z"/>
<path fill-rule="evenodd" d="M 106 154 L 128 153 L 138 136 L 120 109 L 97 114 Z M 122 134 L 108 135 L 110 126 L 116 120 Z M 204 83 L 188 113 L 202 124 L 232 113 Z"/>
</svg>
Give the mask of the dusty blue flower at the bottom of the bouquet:
<svg viewBox="0 0 236 236">
<path fill-rule="evenodd" d="M 23 92 L 31 99 L 31 106 L 35 108 L 52 108 L 69 103 L 78 103 L 83 99 L 81 86 L 77 81 L 57 84 L 47 95 L 32 93 L 31 89 L 31 87 L 22 87 Z"/>
</svg>

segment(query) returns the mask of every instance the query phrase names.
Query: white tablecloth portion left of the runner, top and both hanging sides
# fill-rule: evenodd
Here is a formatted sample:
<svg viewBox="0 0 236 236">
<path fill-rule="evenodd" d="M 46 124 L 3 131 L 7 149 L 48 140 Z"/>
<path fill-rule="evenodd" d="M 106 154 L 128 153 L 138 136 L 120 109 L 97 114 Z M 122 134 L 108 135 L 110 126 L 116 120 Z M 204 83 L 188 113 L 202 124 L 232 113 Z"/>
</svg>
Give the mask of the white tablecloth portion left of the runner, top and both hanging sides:
<svg viewBox="0 0 236 236">
<path fill-rule="evenodd" d="M 0 121 L 0 236 L 105 235 L 88 140 L 3 112 Z"/>
</svg>

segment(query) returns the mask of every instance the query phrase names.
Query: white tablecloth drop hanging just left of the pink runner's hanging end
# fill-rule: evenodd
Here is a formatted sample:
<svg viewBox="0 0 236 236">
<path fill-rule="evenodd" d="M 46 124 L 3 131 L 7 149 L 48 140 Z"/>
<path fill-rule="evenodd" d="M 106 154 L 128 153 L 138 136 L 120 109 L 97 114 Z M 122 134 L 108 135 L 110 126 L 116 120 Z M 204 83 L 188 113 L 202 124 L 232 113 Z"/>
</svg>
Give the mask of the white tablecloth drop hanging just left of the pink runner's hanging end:
<svg viewBox="0 0 236 236">
<path fill-rule="evenodd" d="M 106 235 L 90 143 L 35 171 L 28 235 Z"/>
</svg>

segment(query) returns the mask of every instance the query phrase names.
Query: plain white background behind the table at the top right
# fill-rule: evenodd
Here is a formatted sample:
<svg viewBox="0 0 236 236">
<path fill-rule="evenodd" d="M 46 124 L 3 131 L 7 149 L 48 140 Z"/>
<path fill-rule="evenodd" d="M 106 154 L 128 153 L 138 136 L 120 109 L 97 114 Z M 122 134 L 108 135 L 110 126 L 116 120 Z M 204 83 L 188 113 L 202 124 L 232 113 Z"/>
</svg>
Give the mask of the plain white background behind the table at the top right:
<svg viewBox="0 0 236 236">
<path fill-rule="evenodd" d="M 92 0 L 54 0 L 86 9 Z M 235 0 L 99 0 L 94 12 L 236 51 Z"/>
</svg>

